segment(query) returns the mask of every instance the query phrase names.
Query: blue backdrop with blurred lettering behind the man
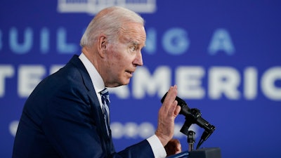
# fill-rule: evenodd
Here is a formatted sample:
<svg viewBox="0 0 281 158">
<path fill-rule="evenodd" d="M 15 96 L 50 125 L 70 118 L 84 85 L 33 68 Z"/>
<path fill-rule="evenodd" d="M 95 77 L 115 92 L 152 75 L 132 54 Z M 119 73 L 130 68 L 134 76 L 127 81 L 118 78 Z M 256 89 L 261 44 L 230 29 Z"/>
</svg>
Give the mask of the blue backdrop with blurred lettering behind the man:
<svg viewBox="0 0 281 158">
<path fill-rule="evenodd" d="M 116 149 L 152 135 L 169 86 L 216 131 L 202 147 L 222 157 L 279 158 L 280 1 L 1 1 L 0 157 L 11 157 L 25 100 L 48 74 L 80 54 L 79 40 L 100 8 L 121 5 L 145 18 L 144 66 L 111 91 Z M 188 150 L 179 130 L 175 138 Z M 197 142 L 203 130 L 194 125 Z M 197 143 L 196 142 L 196 143 Z"/>
</svg>

